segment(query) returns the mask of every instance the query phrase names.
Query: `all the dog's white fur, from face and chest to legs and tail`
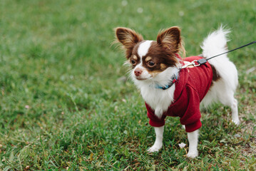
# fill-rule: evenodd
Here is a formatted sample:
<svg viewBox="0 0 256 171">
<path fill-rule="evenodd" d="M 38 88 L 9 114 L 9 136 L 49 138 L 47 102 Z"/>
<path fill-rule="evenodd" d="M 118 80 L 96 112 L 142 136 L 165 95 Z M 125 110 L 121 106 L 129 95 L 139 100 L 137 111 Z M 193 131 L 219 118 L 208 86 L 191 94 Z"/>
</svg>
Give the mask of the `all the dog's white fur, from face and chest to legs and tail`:
<svg viewBox="0 0 256 171">
<path fill-rule="evenodd" d="M 229 31 L 220 27 L 217 31 L 211 33 L 208 38 L 203 41 L 203 56 L 210 58 L 219 53 L 227 51 L 227 33 Z M 143 68 L 142 58 L 148 53 L 152 41 L 145 41 L 140 44 L 138 48 L 138 55 L 140 56 L 140 65 L 138 67 Z M 213 86 L 205 95 L 201 105 L 206 107 L 211 103 L 219 101 L 223 105 L 230 106 L 232 110 L 232 121 L 235 124 L 239 124 L 237 100 L 234 98 L 235 89 L 237 88 L 237 69 L 235 65 L 227 58 L 227 54 L 218 56 L 217 58 L 210 59 L 209 63 L 213 65 L 216 71 L 220 74 L 220 80 L 213 82 Z M 137 67 L 137 66 L 136 66 Z M 175 91 L 175 84 L 167 90 L 155 88 L 155 86 L 165 86 L 170 82 L 171 76 L 177 72 L 178 68 L 169 67 L 162 73 L 159 73 L 155 77 L 148 77 L 147 80 L 138 81 L 134 76 L 134 69 L 131 71 L 131 76 L 136 86 L 140 89 L 141 95 L 150 107 L 155 110 L 155 115 L 159 118 L 163 115 L 169 105 L 173 102 L 173 95 Z M 143 76 L 148 76 L 147 71 L 143 70 Z M 188 133 L 189 151 L 188 157 L 198 156 L 198 130 L 192 133 Z M 155 128 L 155 143 L 149 152 L 155 152 L 160 150 L 163 145 L 163 127 Z"/>
</svg>

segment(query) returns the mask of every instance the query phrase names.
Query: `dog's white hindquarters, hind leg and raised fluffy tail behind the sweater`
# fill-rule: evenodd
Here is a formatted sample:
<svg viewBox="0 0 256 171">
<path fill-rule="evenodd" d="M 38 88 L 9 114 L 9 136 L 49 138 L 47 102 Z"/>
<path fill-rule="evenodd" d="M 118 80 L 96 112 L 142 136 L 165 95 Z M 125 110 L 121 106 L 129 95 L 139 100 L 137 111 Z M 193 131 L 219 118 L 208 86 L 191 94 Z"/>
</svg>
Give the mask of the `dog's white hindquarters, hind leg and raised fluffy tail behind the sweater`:
<svg viewBox="0 0 256 171">
<path fill-rule="evenodd" d="M 227 33 L 229 31 L 220 27 L 219 30 L 211 33 L 208 38 L 203 41 L 203 56 L 210 58 L 217 54 L 227 51 Z M 220 102 L 227 105 L 232 110 L 232 121 L 238 125 L 240 123 L 238 118 L 237 100 L 234 98 L 235 90 L 238 85 L 237 69 L 234 63 L 227 58 L 227 53 L 212 58 L 209 63 L 215 67 L 220 74 L 220 81 L 213 81 L 213 86 L 210 88 L 205 98 L 201 102 L 203 107 L 207 107 L 211 103 Z"/>
</svg>

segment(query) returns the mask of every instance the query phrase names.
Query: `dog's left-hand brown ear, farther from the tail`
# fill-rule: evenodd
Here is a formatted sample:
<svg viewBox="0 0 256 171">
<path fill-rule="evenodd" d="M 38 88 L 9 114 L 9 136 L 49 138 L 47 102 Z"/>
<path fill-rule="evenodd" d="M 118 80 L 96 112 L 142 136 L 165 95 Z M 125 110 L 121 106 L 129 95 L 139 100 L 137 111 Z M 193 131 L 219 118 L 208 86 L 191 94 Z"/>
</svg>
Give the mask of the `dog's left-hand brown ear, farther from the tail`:
<svg viewBox="0 0 256 171">
<path fill-rule="evenodd" d="M 123 47 L 126 48 L 126 50 L 132 50 L 136 43 L 143 41 L 143 37 L 140 34 L 125 27 L 116 28 L 116 38 L 117 41 L 123 44 Z"/>
</svg>

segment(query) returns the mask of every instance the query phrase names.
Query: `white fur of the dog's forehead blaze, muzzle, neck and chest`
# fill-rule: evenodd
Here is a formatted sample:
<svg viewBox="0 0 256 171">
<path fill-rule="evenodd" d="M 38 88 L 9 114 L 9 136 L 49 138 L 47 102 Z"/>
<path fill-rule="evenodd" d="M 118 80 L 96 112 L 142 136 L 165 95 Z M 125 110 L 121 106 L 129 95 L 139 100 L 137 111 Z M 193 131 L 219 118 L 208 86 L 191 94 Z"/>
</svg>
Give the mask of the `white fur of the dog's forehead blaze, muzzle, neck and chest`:
<svg viewBox="0 0 256 171">
<path fill-rule="evenodd" d="M 163 113 L 168 110 L 170 103 L 173 102 L 173 93 L 175 85 L 167 90 L 155 88 L 156 86 L 166 86 L 170 83 L 170 79 L 174 74 L 178 73 L 178 68 L 169 67 L 157 76 L 152 77 L 148 71 L 142 66 L 142 58 L 148 53 L 152 41 L 145 41 L 138 47 L 138 55 L 140 56 L 140 63 L 130 72 L 135 85 L 140 89 L 140 93 L 148 105 L 155 110 L 155 115 L 161 118 Z M 141 68 L 140 78 L 146 78 L 147 80 L 139 81 L 135 78 L 134 70 Z"/>
</svg>

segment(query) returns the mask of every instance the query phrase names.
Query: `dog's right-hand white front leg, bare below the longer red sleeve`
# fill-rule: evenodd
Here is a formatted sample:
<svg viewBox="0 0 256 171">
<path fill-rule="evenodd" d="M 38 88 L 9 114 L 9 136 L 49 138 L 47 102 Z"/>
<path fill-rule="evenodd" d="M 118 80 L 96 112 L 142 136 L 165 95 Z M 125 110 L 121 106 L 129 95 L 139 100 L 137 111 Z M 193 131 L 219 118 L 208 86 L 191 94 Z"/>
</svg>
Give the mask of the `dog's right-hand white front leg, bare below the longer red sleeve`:
<svg viewBox="0 0 256 171">
<path fill-rule="evenodd" d="M 198 157 L 198 132 L 199 130 L 195 130 L 191 133 L 188 133 L 189 147 L 187 157 Z"/>
</svg>

